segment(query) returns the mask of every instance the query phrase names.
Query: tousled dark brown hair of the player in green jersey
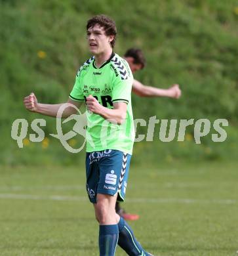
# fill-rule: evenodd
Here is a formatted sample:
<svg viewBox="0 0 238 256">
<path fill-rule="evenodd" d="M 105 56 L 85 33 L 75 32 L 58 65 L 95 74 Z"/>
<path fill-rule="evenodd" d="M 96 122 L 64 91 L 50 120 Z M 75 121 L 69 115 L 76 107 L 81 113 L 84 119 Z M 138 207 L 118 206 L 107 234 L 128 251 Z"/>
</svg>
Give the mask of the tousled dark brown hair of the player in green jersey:
<svg viewBox="0 0 238 256">
<path fill-rule="evenodd" d="M 96 24 L 100 25 L 105 30 L 106 35 L 113 35 L 114 39 L 110 42 L 111 48 L 115 46 L 115 38 L 117 36 L 117 28 L 115 22 L 104 14 L 96 15 L 90 18 L 87 22 L 87 30 L 94 27 Z"/>
</svg>

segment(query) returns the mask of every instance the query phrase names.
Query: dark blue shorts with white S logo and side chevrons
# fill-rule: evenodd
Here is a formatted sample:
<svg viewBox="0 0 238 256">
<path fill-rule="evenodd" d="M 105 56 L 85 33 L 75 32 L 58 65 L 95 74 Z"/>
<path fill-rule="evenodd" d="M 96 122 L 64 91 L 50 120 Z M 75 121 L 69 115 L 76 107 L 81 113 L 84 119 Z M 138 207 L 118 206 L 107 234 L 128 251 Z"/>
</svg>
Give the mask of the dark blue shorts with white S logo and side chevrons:
<svg viewBox="0 0 238 256">
<path fill-rule="evenodd" d="M 119 150 L 87 153 L 86 188 L 91 203 L 96 203 L 98 193 L 114 196 L 118 192 L 117 201 L 125 200 L 130 158 Z"/>
</svg>

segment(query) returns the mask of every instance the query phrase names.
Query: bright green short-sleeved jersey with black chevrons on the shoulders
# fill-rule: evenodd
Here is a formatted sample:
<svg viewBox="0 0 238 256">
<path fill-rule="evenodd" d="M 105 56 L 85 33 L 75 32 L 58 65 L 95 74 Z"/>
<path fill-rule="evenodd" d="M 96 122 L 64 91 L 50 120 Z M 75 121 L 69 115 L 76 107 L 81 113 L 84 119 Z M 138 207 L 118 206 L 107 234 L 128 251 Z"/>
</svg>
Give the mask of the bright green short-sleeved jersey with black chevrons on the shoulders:
<svg viewBox="0 0 238 256">
<path fill-rule="evenodd" d="M 122 125 L 111 123 L 98 114 L 87 111 L 87 152 L 113 149 L 132 154 L 132 82 L 129 64 L 115 53 L 100 68 L 96 68 L 92 56 L 77 72 L 75 85 L 69 95 L 72 100 L 81 102 L 92 95 L 106 108 L 113 108 L 115 102 L 127 103 L 127 117 Z"/>
</svg>

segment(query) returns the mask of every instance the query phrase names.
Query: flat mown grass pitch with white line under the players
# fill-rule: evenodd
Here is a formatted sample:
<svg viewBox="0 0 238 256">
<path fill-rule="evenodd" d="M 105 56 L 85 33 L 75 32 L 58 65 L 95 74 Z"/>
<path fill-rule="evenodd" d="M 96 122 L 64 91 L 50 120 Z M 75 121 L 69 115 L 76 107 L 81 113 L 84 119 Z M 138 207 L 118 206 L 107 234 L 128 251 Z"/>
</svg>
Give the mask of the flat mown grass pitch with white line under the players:
<svg viewBox="0 0 238 256">
<path fill-rule="evenodd" d="M 0 255 L 98 255 L 83 167 L 1 167 Z M 238 255 L 237 163 L 130 169 L 125 208 L 154 255 Z M 117 248 L 116 255 L 125 255 Z"/>
</svg>

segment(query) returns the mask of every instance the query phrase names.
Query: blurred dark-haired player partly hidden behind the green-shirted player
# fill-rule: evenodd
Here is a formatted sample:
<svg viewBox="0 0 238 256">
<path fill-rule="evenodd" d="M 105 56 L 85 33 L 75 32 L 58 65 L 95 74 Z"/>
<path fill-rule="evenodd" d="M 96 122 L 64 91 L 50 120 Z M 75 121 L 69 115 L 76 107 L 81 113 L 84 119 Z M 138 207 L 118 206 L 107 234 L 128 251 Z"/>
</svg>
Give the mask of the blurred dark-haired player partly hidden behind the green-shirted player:
<svg viewBox="0 0 238 256">
<path fill-rule="evenodd" d="M 141 49 L 131 48 L 127 50 L 124 54 L 125 60 L 129 63 L 130 70 L 134 74 L 135 72 L 142 70 L 146 65 L 146 58 Z M 159 89 L 157 87 L 151 87 L 148 85 L 143 85 L 136 79 L 132 83 L 132 92 L 138 96 L 142 97 L 170 97 L 170 98 L 180 98 L 181 91 L 177 84 L 169 87 L 169 89 Z M 121 208 L 119 202 L 116 203 L 115 209 L 117 214 L 122 216 L 128 221 L 136 221 L 139 218 L 137 214 L 127 213 L 125 209 Z"/>
</svg>

